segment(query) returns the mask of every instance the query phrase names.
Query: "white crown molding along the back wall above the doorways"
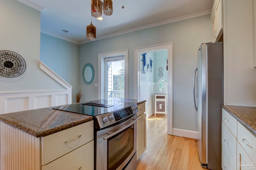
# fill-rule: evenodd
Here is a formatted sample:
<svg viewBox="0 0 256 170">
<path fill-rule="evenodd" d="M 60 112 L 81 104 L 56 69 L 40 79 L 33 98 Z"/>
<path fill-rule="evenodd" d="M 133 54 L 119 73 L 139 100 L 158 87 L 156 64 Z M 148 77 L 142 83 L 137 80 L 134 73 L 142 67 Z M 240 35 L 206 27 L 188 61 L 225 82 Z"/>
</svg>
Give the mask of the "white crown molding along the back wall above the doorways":
<svg viewBox="0 0 256 170">
<path fill-rule="evenodd" d="M 150 28 L 150 27 L 156 27 L 156 26 L 159 26 L 159 25 L 167 24 L 167 23 L 172 23 L 172 22 L 176 22 L 176 21 L 182 21 L 182 20 L 186 20 L 186 19 L 190 19 L 190 18 L 195 18 L 195 17 L 198 17 L 198 16 L 204 16 L 204 15 L 207 15 L 207 14 L 211 14 L 211 11 L 212 11 L 212 9 L 203 10 L 203 11 L 200 11 L 200 12 L 195 12 L 195 13 L 187 14 L 187 15 L 184 15 L 184 16 L 170 18 L 168 20 L 162 20 L 162 21 L 158 21 L 158 22 L 155 22 L 155 23 L 150 23 L 150 24 L 147 24 L 147 25 L 142 25 L 142 26 L 139 26 L 139 27 L 134 27 L 134 28 L 131 28 L 131 29 L 126 29 L 124 31 L 119 31 L 119 32 L 116 32 L 116 33 L 112 33 L 112 34 L 108 34 L 108 35 L 97 37 L 95 41 L 100 40 L 100 39 L 104 39 L 104 38 L 114 37 L 116 35 L 122 35 L 122 34 L 125 34 L 125 33 L 130 33 L 130 32 L 134 32 L 134 31 L 138 31 L 138 30 L 141 30 L 141 29 L 146 29 L 146 28 Z M 85 39 L 83 41 L 79 41 L 78 44 L 84 44 L 84 43 L 89 43 L 89 42 L 91 42 L 91 41 Z"/>
</svg>

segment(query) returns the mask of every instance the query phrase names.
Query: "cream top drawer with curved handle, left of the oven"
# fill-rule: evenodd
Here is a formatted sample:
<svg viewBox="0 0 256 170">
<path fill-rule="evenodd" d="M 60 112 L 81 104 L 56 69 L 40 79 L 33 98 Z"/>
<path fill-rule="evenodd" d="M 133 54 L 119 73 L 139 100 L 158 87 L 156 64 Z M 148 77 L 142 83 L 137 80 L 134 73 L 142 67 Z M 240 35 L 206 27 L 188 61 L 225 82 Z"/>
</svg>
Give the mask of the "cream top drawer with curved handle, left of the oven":
<svg viewBox="0 0 256 170">
<path fill-rule="evenodd" d="M 79 137 L 79 135 L 81 136 Z M 81 125 L 42 137 L 41 140 L 42 165 L 45 165 L 59 158 L 60 156 L 92 141 L 93 121 L 89 121 Z M 64 143 L 66 141 L 70 142 Z"/>
</svg>

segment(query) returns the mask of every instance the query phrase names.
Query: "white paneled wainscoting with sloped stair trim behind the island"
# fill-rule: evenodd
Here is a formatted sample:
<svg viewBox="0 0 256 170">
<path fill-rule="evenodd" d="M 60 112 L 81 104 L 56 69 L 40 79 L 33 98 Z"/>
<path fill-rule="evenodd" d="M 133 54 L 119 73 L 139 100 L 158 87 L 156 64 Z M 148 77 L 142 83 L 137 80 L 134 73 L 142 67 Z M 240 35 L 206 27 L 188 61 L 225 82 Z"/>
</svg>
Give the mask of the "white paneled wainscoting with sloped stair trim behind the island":
<svg viewBox="0 0 256 170">
<path fill-rule="evenodd" d="M 66 89 L 0 92 L 0 114 L 72 103 L 72 86 L 44 63 L 39 66 Z"/>
</svg>

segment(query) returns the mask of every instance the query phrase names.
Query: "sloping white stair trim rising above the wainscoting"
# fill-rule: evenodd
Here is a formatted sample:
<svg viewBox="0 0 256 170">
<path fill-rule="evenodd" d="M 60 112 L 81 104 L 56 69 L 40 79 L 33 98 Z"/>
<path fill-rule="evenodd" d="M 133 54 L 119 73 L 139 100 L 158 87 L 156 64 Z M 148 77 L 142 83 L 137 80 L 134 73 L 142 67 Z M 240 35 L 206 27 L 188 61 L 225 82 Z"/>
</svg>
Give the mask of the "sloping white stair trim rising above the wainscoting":
<svg viewBox="0 0 256 170">
<path fill-rule="evenodd" d="M 39 68 L 41 68 L 44 72 L 46 72 L 49 76 L 51 76 L 54 80 L 64 86 L 66 89 L 72 88 L 70 84 L 68 84 L 65 80 L 63 80 L 58 74 L 52 71 L 48 66 L 46 66 L 42 61 L 39 63 Z"/>
</svg>

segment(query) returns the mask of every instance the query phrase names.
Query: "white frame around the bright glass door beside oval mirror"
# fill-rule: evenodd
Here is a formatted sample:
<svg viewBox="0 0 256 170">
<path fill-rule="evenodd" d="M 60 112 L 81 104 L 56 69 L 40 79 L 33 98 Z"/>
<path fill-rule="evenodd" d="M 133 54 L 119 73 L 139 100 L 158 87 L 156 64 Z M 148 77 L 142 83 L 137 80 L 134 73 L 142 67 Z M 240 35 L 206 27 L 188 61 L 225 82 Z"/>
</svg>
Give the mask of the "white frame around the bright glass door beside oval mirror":
<svg viewBox="0 0 256 170">
<path fill-rule="evenodd" d="M 98 54 L 99 75 L 98 75 L 98 99 L 104 98 L 105 88 L 105 58 L 124 55 L 124 98 L 128 98 L 128 49 Z"/>
</svg>

